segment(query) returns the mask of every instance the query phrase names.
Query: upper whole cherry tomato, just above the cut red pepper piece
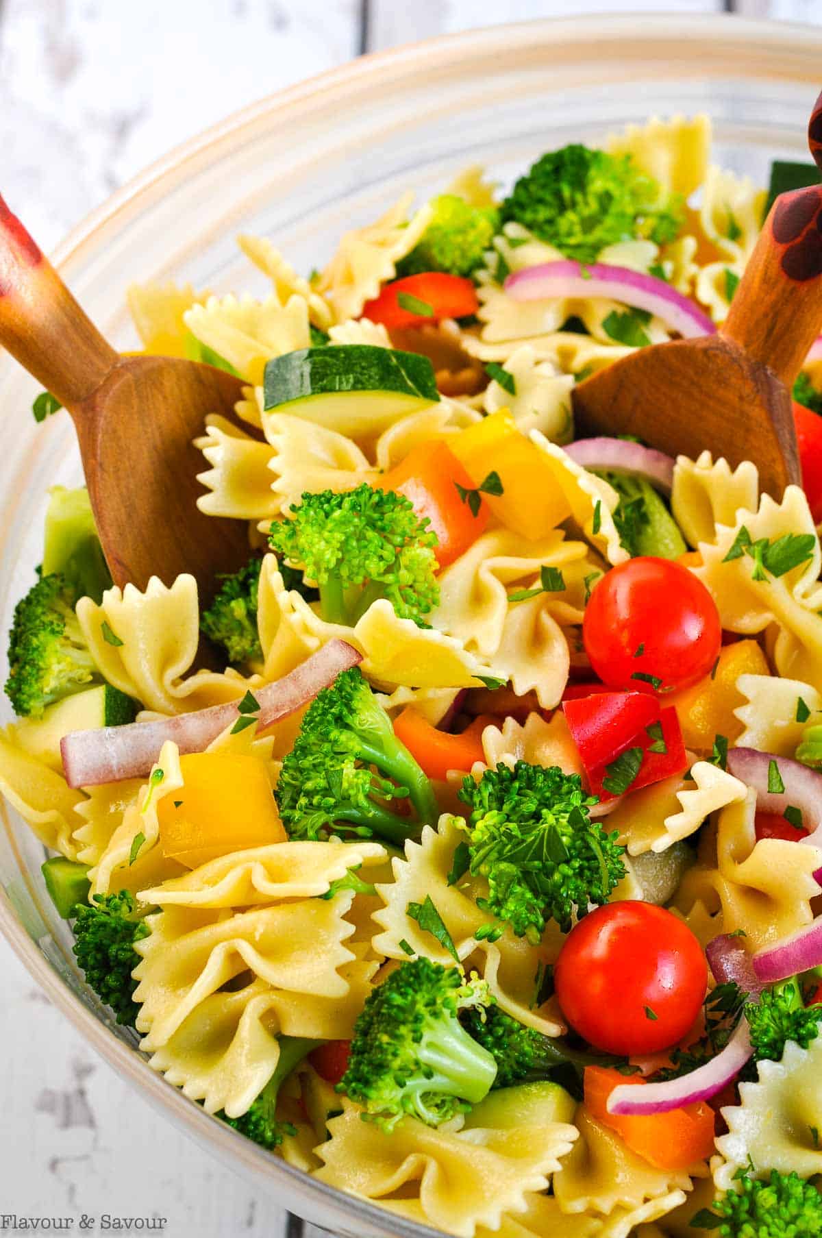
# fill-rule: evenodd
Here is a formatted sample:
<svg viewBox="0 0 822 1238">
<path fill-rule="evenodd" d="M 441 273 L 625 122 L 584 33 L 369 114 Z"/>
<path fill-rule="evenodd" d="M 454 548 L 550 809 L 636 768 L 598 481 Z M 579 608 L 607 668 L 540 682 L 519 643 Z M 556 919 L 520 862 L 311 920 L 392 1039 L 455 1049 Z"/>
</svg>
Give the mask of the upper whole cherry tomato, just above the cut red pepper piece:
<svg viewBox="0 0 822 1238">
<path fill-rule="evenodd" d="M 594 586 L 582 639 L 605 683 L 670 692 L 709 673 L 722 626 L 713 598 L 687 567 L 640 556 L 612 567 Z"/>
</svg>

